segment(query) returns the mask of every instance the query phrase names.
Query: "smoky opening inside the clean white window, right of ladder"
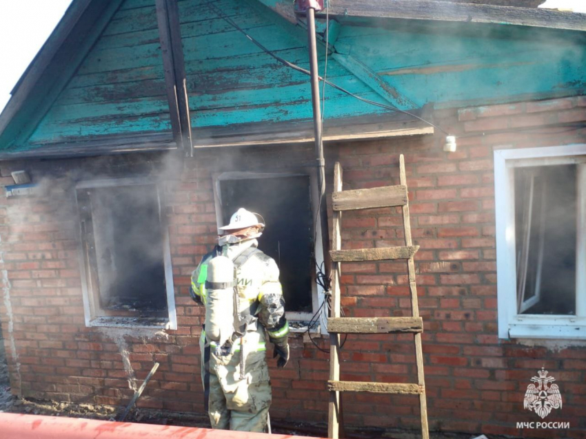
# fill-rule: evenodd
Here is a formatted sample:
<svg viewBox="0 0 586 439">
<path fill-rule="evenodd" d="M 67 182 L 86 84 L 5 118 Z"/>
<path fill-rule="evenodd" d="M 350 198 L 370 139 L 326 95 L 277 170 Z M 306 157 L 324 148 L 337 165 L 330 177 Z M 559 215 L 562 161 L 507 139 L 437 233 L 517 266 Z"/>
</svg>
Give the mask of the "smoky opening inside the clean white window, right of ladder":
<svg viewBox="0 0 586 439">
<path fill-rule="evenodd" d="M 515 169 L 519 314 L 576 314 L 576 171 Z"/>
</svg>

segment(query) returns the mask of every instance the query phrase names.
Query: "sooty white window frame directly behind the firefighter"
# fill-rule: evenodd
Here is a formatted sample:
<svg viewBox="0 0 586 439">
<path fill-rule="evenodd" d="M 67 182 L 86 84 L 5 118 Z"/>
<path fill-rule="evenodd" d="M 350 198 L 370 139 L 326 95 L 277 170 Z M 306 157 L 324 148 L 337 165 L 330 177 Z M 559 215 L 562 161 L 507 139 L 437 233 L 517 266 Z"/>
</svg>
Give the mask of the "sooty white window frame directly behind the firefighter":
<svg viewBox="0 0 586 439">
<path fill-rule="evenodd" d="M 218 234 L 221 235 L 220 227 L 223 226 L 223 217 L 222 217 L 222 203 L 220 199 L 220 182 L 222 180 L 245 180 L 249 178 L 259 179 L 259 178 L 285 178 L 285 177 L 295 177 L 295 176 L 308 176 L 310 178 L 310 191 L 311 191 L 311 201 L 312 201 L 312 215 L 315 217 L 316 212 L 319 211 L 319 206 L 317 200 L 319 200 L 319 192 L 318 192 L 318 184 L 317 184 L 317 176 L 315 172 L 312 172 L 313 169 L 308 169 L 307 171 L 301 170 L 299 172 L 279 172 L 279 173 L 259 173 L 259 172 L 223 172 L 223 173 L 214 173 L 212 175 L 213 186 L 214 186 L 214 204 L 216 207 L 216 225 L 218 227 Z M 323 264 L 323 248 L 321 246 L 321 222 L 316 222 L 316 239 L 314 242 L 314 252 L 315 258 L 318 265 Z M 325 295 L 323 293 L 323 288 L 317 285 L 315 281 L 312 281 L 312 312 L 294 312 L 294 311 L 287 311 L 285 312 L 285 317 L 290 322 L 309 322 L 314 313 L 320 309 L 322 303 L 325 301 Z M 285 306 L 286 308 L 286 306 Z M 325 307 L 324 305 L 324 308 Z M 327 315 L 325 312 L 321 312 L 319 315 L 319 323 L 314 328 L 312 328 L 311 332 L 327 334 Z M 291 332 L 306 332 L 307 325 L 303 326 L 300 325 L 299 328 L 296 326 L 290 325 Z"/>
</svg>

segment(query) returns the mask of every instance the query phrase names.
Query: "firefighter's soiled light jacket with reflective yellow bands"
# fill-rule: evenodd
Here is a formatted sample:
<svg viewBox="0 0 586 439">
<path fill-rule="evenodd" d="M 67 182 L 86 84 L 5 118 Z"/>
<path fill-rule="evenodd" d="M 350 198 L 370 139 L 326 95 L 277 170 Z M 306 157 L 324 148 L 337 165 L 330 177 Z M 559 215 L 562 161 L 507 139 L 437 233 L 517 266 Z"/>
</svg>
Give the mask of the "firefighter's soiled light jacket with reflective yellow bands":
<svg viewBox="0 0 586 439">
<path fill-rule="evenodd" d="M 236 265 L 236 293 L 237 305 L 241 317 L 248 317 L 248 325 L 244 336 L 247 352 L 264 351 L 264 329 L 273 343 L 287 343 L 289 325 L 285 319 L 285 301 L 283 290 L 279 282 L 279 268 L 274 259 L 256 249 L 258 241 L 248 239 L 239 244 L 230 244 L 223 247 L 216 246 L 212 252 L 205 255 L 199 266 L 192 272 L 192 299 L 206 305 L 205 280 L 208 276 L 208 264 L 217 255 L 224 255 Z M 250 253 L 243 263 L 239 264 L 239 257 Z M 260 323 L 260 324 L 259 324 Z M 235 322 L 236 325 L 236 322 Z M 238 328 L 236 328 L 238 329 Z M 211 343 L 212 352 L 216 346 Z M 232 345 L 232 352 L 239 350 L 239 343 Z"/>
</svg>

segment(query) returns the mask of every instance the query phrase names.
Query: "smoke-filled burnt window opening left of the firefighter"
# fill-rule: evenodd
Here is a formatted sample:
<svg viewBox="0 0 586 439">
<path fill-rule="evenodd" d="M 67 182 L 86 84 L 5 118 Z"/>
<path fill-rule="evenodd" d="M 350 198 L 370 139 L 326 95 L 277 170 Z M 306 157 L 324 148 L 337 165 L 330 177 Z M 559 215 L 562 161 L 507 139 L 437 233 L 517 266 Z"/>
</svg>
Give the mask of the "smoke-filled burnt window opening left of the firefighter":
<svg viewBox="0 0 586 439">
<path fill-rule="evenodd" d="M 77 189 L 77 203 L 90 319 L 168 321 L 165 240 L 156 185 Z"/>
</svg>

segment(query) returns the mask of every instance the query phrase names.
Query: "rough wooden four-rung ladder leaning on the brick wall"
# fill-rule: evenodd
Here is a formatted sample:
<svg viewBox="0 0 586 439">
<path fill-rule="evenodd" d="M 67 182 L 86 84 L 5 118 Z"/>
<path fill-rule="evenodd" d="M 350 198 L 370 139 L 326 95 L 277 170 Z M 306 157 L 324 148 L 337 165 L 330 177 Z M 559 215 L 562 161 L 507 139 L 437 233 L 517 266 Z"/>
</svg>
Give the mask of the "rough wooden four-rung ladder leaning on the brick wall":
<svg viewBox="0 0 586 439">
<path fill-rule="evenodd" d="M 421 429 L 423 439 L 429 439 L 427 427 L 427 403 L 425 401 L 425 381 L 423 376 L 423 353 L 421 352 L 421 332 L 423 320 L 419 317 L 417 305 L 417 288 L 415 285 L 415 264 L 413 257 L 419 246 L 412 245 L 409 204 L 407 200 L 407 181 L 405 178 L 405 160 L 401 154 L 401 184 L 383 186 L 373 189 L 342 190 L 342 167 L 336 162 L 334 167 L 334 227 L 332 237 L 332 312 L 327 319 L 330 332 L 330 410 L 327 436 L 339 438 L 341 403 L 339 392 L 374 392 L 383 394 L 419 395 L 421 407 Z M 389 248 L 365 248 L 361 250 L 341 250 L 341 220 L 343 211 L 366 208 L 402 206 L 403 227 L 405 229 L 405 246 Z M 340 317 L 340 264 L 350 261 L 383 261 L 387 259 L 407 259 L 409 272 L 409 289 L 413 317 L 374 317 L 346 318 Z M 340 381 L 340 334 L 391 334 L 412 332 L 415 335 L 415 360 L 417 366 L 417 384 L 405 383 L 370 383 L 358 381 Z"/>
</svg>

